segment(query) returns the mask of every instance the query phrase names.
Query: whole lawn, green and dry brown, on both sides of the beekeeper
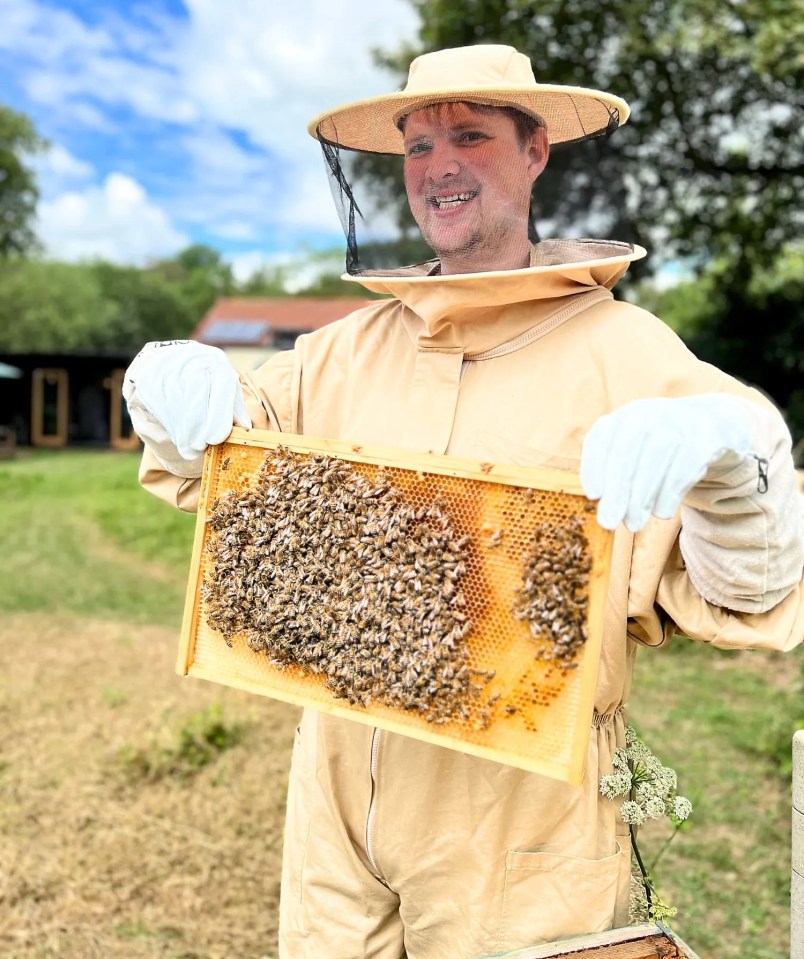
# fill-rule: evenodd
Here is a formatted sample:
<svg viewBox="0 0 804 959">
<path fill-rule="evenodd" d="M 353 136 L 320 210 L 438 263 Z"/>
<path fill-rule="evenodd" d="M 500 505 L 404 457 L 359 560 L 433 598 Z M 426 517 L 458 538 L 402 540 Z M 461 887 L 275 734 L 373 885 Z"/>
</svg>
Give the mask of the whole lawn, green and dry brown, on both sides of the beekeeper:
<svg viewBox="0 0 804 959">
<path fill-rule="evenodd" d="M 0 955 L 273 957 L 297 711 L 175 675 L 194 517 L 137 466 L 0 463 Z M 702 959 L 789 954 L 803 680 L 798 652 L 638 659 L 632 721 L 694 804 L 640 844 Z"/>
</svg>

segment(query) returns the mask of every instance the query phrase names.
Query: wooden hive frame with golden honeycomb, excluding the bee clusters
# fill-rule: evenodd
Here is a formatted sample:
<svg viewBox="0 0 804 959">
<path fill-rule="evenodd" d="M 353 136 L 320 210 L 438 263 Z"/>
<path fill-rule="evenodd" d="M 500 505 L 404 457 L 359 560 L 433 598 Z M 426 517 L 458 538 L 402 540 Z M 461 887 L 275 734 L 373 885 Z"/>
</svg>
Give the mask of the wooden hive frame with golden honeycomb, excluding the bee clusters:
<svg viewBox="0 0 804 959">
<path fill-rule="evenodd" d="M 245 640 L 230 648 L 208 627 L 201 585 L 211 505 L 228 492 L 253 485 L 268 451 L 280 447 L 302 457 L 323 454 L 346 461 L 369 478 L 382 470 L 406 497 L 421 498 L 421 484 L 426 482 L 431 494 L 435 488 L 449 500 L 456 528 L 473 539 L 480 557 L 483 596 L 478 598 L 480 587 L 475 588 L 470 615 L 478 625 L 467 645 L 478 670 L 495 673 L 484 691 L 489 702 L 498 700 L 487 727 L 457 721 L 434 726 L 419 715 L 380 703 L 350 705 L 324 689 L 320 676 L 272 667 Z M 592 563 L 588 638 L 577 656 L 577 668 L 566 671 L 536 661 L 527 624 L 511 612 L 521 576 L 522 543 L 546 516 L 556 524 L 569 516 L 582 517 Z M 499 534 L 503 527 L 506 545 L 492 549 L 496 544 L 488 531 L 497 529 Z M 593 718 L 611 545 L 612 534 L 597 524 L 574 473 L 235 428 L 226 442 L 209 448 L 205 460 L 177 671 L 577 785 L 583 779 Z"/>
</svg>

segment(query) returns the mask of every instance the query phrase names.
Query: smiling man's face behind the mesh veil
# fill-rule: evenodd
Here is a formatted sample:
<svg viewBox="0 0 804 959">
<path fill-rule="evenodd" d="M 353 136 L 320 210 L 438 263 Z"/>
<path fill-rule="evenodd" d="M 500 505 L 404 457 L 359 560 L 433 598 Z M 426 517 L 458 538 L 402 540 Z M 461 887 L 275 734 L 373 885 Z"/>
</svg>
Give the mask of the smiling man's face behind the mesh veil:
<svg viewBox="0 0 804 959">
<path fill-rule="evenodd" d="M 499 268 L 512 243 L 527 244 L 531 188 L 547 159 L 542 134 L 523 145 L 510 116 L 466 103 L 425 107 L 406 118 L 408 202 L 442 262 L 468 258 L 471 270 L 488 259 Z"/>
</svg>

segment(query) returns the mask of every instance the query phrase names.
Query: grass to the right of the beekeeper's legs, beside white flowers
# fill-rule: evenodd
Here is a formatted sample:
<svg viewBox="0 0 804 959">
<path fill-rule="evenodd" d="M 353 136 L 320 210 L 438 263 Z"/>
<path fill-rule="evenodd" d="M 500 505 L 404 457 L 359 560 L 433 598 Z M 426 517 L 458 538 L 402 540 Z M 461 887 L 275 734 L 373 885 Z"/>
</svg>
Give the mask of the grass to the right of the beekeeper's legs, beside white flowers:
<svg viewBox="0 0 804 959">
<path fill-rule="evenodd" d="M 804 727 L 801 655 L 723 652 L 677 638 L 637 660 L 631 717 L 693 803 L 640 847 L 670 925 L 702 957 L 786 959 L 790 906 L 790 752 Z"/>
</svg>

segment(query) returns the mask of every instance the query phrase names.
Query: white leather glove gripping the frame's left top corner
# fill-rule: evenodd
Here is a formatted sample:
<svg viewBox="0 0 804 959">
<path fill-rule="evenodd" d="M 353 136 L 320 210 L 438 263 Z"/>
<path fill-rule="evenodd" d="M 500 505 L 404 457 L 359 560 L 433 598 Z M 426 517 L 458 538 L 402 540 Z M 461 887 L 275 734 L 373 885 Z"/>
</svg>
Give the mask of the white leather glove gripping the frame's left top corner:
<svg viewBox="0 0 804 959">
<path fill-rule="evenodd" d="M 200 476 L 207 446 L 251 426 L 240 381 L 223 350 L 194 340 L 146 343 L 123 380 L 131 424 L 177 476 Z"/>
</svg>

